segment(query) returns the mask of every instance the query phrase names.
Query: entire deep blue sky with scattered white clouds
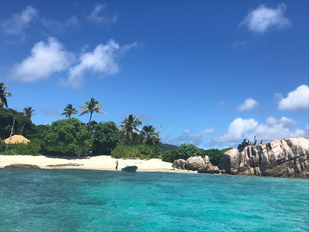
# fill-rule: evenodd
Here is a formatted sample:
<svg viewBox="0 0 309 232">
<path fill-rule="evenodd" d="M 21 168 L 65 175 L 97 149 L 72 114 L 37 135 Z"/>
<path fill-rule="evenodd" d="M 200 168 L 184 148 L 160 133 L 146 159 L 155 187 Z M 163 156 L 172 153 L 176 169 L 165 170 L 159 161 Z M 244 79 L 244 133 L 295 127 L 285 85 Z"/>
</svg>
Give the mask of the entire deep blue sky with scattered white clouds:
<svg viewBox="0 0 309 232">
<path fill-rule="evenodd" d="M 9 107 L 36 124 L 95 97 L 94 120 L 135 114 L 175 145 L 308 136 L 308 1 L 1 1 L 0 17 Z"/>
</svg>

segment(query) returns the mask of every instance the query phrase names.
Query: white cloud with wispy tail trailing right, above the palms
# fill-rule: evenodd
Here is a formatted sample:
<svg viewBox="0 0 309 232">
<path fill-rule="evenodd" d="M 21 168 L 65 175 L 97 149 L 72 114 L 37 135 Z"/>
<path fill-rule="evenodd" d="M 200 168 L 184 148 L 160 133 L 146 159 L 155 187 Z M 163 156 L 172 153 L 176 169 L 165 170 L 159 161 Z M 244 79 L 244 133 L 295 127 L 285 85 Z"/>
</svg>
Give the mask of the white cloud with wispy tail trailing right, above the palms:
<svg viewBox="0 0 309 232">
<path fill-rule="evenodd" d="M 80 55 L 79 63 L 69 68 L 68 79 L 62 79 L 60 85 L 79 88 L 82 85 L 83 75 L 86 71 L 92 71 L 100 75 L 118 73 L 120 68 L 115 59 L 122 54 L 124 48 L 127 51 L 135 45 L 137 45 L 136 42 L 121 47 L 114 40 L 109 40 L 106 45 L 97 45 L 93 51 Z"/>
</svg>

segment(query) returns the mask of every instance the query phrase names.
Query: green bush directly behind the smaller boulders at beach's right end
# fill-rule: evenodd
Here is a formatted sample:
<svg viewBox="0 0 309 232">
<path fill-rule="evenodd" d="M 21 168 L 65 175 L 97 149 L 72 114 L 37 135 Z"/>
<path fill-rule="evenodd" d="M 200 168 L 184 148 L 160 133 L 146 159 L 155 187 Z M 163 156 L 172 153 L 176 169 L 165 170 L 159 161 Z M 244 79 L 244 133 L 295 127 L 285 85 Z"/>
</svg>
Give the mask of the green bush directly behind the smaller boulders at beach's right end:
<svg viewBox="0 0 309 232">
<path fill-rule="evenodd" d="M 172 163 L 174 160 L 187 160 L 191 156 L 204 156 L 204 151 L 193 144 L 181 144 L 179 148 L 167 150 L 162 154 L 162 161 Z"/>
</svg>

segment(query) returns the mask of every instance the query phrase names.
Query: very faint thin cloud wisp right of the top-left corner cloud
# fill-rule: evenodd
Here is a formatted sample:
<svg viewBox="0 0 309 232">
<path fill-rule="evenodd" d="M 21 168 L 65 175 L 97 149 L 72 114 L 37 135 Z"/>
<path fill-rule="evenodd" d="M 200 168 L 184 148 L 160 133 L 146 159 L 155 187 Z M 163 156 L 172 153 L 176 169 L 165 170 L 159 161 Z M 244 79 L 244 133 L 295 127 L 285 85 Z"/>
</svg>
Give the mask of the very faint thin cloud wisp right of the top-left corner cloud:
<svg viewBox="0 0 309 232">
<path fill-rule="evenodd" d="M 61 32 L 64 32 L 69 27 L 78 27 L 79 21 L 77 17 L 74 15 L 70 19 L 66 20 L 66 22 L 57 22 L 50 19 L 41 19 L 41 23 L 45 28 L 48 28 L 53 33 L 60 34 Z"/>
</svg>

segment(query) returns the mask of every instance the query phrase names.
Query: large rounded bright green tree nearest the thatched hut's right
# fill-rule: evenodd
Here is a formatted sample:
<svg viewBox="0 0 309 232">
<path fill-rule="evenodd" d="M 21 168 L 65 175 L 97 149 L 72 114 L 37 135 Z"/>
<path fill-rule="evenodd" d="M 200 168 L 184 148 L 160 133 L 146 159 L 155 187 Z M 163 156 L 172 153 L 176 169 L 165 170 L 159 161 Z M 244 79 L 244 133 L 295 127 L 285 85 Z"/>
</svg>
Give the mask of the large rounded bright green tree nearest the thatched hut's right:
<svg viewBox="0 0 309 232">
<path fill-rule="evenodd" d="M 60 119 L 47 126 L 44 143 L 47 151 L 81 154 L 92 147 L 93 132 L 77 118 Z"/>
</svg>

